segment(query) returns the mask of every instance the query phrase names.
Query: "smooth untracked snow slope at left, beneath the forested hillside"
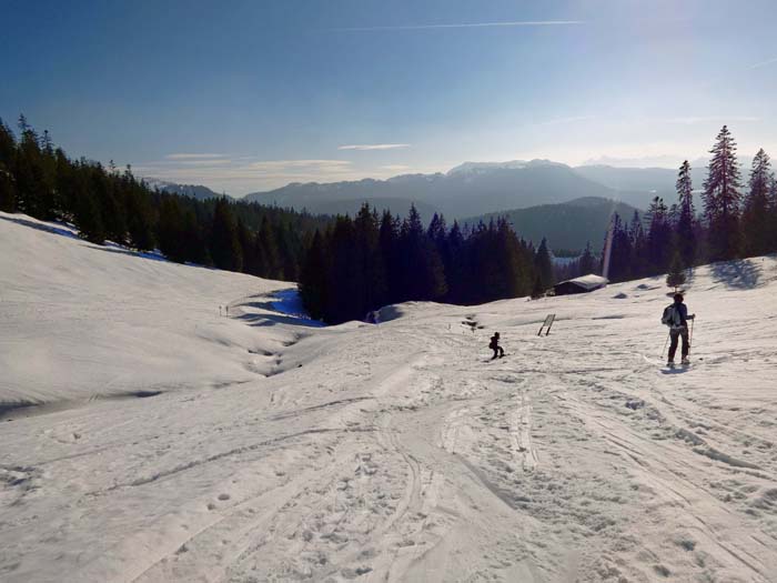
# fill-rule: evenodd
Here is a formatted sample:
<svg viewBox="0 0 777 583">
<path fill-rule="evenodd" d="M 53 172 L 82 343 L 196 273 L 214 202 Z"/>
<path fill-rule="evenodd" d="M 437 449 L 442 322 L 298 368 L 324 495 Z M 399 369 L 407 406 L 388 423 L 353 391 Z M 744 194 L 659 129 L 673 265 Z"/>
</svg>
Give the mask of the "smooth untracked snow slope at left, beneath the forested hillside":
<svg viewBox="0 0 777 583">
<path fill-rule="evenodd" d="M 287 282 L 44 229 L 0 213 L 0 406 L 249 381 L 248 349 L 282 341 L 219 318 L 219 306 Z"/>
</svg>

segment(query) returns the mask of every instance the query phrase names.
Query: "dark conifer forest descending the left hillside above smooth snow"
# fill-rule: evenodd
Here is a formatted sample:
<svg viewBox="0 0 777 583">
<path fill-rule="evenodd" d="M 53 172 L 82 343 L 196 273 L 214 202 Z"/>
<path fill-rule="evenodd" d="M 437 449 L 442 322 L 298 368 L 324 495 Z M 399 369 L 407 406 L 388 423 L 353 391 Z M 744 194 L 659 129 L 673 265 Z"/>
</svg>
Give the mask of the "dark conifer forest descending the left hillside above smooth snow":
<svg viewBox="0 0 777 583">
<path fill-rule="evenodd" d="M 331 219 L 221 199 L 151 190 L 128 165 L 119 171 L 71 160 L 48 131 L 19 118 L 19 138 L 0 120 L 0 210 L 72 223 L 80 237 L 178 262 L 296 281 L 316 229 Z"/>
</svg>

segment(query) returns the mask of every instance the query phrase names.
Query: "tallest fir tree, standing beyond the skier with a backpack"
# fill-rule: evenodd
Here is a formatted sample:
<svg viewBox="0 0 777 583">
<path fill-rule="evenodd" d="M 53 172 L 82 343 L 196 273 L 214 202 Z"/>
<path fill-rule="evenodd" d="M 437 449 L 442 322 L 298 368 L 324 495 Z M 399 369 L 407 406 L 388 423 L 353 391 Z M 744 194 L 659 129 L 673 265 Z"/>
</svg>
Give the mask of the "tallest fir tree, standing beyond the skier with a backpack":
<svg viewBox="0 0 777 583">
<path fill-rule="evenodd" d="M 741 179 L 736 151 L 734 137 L 724 125 L 709 151 L 713 157 L 704 182 L 704 212 L 709 227 L 712 259 L 731 259 L 738 251 Z"/>
</svg>

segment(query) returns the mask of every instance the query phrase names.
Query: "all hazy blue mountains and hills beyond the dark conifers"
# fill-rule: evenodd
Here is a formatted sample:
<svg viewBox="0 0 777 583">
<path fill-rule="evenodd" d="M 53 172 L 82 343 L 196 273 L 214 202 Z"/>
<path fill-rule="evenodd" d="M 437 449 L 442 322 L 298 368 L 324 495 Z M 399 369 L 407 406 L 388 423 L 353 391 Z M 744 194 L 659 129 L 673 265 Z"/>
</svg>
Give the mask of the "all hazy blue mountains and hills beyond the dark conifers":
<svg viewBox="0 0 777 583">
<path fill-rule="evenodd" d="M 743 159 L 743 175 L 746 162 Z M 695 189 L 702 188 L 705 174 L 705 162 L 696 160 L 692 174 Z M 587 241 L 596 249 L 614 210 L 630 218 L 635 209 L 646 209 L 654 197 L 672 203 L 676 179 L 677 170 L 667 168 L 569 167 L 549 160 L 465 162 L 444 173 L 387 180 L 293 182 L 246 194 L 244 200 L 314 214 L 351 215 L 365 201 L 379 211 L 389 209 L 403 217 L 415 204 L 423 220 L 441 212 L 448 223 L 507 214 L 516 231 L 535 243 L 547 237 L 554 249 L 582 249 Z M 206 187 L 145 181 L 201 200 L 221 195 Z"/>
</svg>

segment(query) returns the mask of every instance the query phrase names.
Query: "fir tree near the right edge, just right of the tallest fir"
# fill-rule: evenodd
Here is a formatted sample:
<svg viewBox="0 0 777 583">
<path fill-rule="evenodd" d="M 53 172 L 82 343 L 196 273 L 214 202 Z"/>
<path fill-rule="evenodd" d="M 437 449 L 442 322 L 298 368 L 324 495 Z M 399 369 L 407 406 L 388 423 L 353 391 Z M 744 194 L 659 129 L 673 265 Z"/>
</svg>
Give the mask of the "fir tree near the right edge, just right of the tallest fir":
<svg viewBox="0 0 777 583">
<path fill-rule="evenodd" d="M 760 255 L 770 248 L 774 225 L 770 224 L 769 194 L 773 178 L 771 162 L 761 148 L 753 159 L 749 191 L 741 217 L 743 244 L 747 255 Z"/>
</svg>

